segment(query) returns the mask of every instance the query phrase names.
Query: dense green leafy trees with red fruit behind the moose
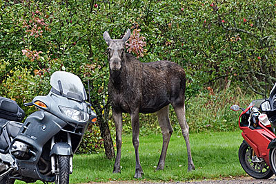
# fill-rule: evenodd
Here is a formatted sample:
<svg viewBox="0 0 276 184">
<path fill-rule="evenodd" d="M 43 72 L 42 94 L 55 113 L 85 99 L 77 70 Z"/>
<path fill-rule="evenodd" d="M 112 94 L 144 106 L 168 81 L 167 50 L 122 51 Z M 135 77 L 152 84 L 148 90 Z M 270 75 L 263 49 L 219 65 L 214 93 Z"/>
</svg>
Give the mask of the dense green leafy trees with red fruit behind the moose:
<svg viewBox="0 0 276 184">
<path fill-rule="evenodd" d="M 22 107 L 35 95 L 48 93 L 50 74 L 69 71 L 81 77 L 87 91 L 89 81 L 92 107 L 100 122 L 108 122 L 102 35 L 108 30 L 112 38 L 120 38 L 128 28 L 136 33 L 128 50 L 141 62 L 168 59 L 185 68 L 187 99 L 207 94 L 207 88 L 237 86 L 266 95 L 266 88 L 276 82 L 275 7 L 270 0 L 0 0 L 0 95 Z M 155 116 L 141 116 L 141 121 L 145 127 L 156 125 Z M 211 122 L 206 125 L 217 127 Z M 85 142 L 94 143 L 90 137 L 99 135 L 93 132 L 90 129 Z"/>
</svg>

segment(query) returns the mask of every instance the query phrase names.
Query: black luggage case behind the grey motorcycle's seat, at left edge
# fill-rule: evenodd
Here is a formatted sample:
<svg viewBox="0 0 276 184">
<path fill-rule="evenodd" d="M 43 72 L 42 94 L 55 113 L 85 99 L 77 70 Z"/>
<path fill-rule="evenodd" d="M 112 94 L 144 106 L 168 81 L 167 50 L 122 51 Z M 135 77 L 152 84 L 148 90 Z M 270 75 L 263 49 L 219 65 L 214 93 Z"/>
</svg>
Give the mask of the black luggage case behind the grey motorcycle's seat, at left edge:
<svg viewBox="0 0 276 184">
<path fill-rule="evenodd" d="M 0 118 L 21 122 L 24 117 L 25 112 L 18 106 L 17 102 L 0 97 Z"/>
</svg>

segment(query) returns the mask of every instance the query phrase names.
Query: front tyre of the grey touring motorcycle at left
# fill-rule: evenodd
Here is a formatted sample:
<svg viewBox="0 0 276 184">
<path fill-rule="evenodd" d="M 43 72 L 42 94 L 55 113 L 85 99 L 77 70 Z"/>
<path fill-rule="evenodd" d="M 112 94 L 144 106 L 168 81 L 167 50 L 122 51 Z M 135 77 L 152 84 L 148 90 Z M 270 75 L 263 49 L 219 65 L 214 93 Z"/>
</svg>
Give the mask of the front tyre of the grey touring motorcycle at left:
<svg viewBox="0 0 276 184">
<path fill-rule="evenodd" d="M 70 175 L 70 156 L 57 156 L 56 184 L 68 184 Z"/>
</svg>

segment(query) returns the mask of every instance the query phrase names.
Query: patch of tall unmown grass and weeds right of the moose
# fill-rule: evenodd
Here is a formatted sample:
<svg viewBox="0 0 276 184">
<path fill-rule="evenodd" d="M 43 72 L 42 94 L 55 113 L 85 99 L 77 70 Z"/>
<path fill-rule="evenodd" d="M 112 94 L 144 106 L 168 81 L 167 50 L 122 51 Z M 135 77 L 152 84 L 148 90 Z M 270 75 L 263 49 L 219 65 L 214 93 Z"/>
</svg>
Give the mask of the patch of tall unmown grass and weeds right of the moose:
<svg viewBox="0 0 276 184">
<path fill-rule="evenodd" d="M 260 98 L 246 92 L 237 88 L 215 93 L 208 88 L 208 92 L 199 93 L 197 97 L 191 98 L 186 103 L 186 118 L 190 132 L 237 130 L 241 111 L 231 111 L 231 105 L 247 107 L 252 100 Z M 175 115 L 172 116 L 172 120 L 176 120 Z"/>
</svg>

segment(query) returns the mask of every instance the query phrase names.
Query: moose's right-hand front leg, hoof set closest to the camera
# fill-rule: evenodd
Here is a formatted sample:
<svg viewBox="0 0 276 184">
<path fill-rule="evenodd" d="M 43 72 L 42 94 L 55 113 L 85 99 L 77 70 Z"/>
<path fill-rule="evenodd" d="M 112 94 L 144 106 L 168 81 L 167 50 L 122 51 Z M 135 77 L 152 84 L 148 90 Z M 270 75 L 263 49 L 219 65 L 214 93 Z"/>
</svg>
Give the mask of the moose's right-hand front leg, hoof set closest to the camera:
<svg viewBox="0 0 276 184">
<path fill-rule="evenodd" d="M 139 159 L 139 111 L 135 111 L 135 113 L 131 113 L 131 125 L 132 125 L 132 143 L 135 149 L 135 178 L 141 178 L 144 174 L 140 159 Z"/>
</svg>

